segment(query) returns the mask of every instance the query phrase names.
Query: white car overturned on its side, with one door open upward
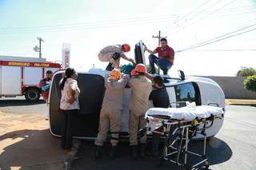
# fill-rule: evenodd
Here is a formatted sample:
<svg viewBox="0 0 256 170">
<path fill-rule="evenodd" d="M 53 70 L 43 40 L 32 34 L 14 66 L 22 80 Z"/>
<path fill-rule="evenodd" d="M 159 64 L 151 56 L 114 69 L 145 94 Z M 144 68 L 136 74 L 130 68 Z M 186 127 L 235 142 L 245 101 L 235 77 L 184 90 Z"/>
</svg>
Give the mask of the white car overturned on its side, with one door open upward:
<svg viewBox="0 0 256 170">
<path fill-rule="evenodd" d="M 137 63 L 145 62 L 142 42 L 135 45 L 135 60 Z M 64 70 L 54 73 L 50 87 L 50 132 L 54 136 L 61 136 L 63 115 L 59 109 L 61 90 L 59 81 Z M 94 139 L 98 132 L 99 113 L 105 93 L 104 77 L 108 73 L 102 69 L 90 69 L 86 72 L 78 72 L 78 86 L 81 89 L 79 102 L 81 109 L 74 120 L 74 136 L 81 139 Z M 180 71 L 180 78 L 165 78 L 165 85 L 170 97 L 170 107 L 182 107 L 186 101 L 195 102 L 196 105 L 214 105 L 225 108 L 225 96 L 220 86 L 203 77 L 185 77 Z M 121 134 L 128 136 L 129 109 L 128 101 L 130 89 L 125 89 Z M 224 115 L 223 115 L 224 117 Z M 207 129 L 207 136 L 214 136 L 222 127 L 223 120 L 214 121 L 214 125 Z M 198 136 L 200 137 L 200 136 Z"/>
</svg>

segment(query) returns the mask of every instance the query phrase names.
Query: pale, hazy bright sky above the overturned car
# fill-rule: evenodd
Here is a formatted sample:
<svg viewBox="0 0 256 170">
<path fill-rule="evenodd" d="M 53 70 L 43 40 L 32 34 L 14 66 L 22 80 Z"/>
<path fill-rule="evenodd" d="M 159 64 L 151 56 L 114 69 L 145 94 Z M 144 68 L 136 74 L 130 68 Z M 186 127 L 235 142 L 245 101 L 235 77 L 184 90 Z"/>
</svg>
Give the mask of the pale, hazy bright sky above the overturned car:
<svg viewBox="0 0 256 170">
<path fill-rule="evenodd" d="M 62 60 L 65 42 L 71 45 L 72 67 L 105 68 L 97 55 L 106 45 L 128 43 L 127 56 L 134 57 L 139 40 L 156 48 L 152 35 L 161 30 L 180 51 L 254 24 L 256 0 L 0 0 L 0 55 L 38 57 L 33 47 L 41 37 L 47 61 Z M 252 30 L 177 52 L 170 75 L 182 69 L 186 75 L 235 76 L 242 66 L 256 68 L 255 39 Z"/>
</svg>

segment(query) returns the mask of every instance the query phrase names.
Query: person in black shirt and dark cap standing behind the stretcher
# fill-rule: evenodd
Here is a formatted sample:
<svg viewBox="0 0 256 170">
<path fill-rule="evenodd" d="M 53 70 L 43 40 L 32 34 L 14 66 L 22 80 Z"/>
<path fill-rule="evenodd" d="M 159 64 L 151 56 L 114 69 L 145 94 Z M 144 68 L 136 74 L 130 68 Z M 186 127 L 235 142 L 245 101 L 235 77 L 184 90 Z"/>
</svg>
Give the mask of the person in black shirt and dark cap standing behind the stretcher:
<svg viewBox="0 0 256 170">
<path fill-rule="evenodd" d="M 150 93 L 150 101 L 153 101 L 154 108 L 169 108 L 170 99 L 166 91 L 166 87 L 163 84 L 163 79 L 160 76 L 156 76 L 153 79 L 154 89 Z M 153 156 L 158 156 L 160 143 L 160 135 L 153 132 L 153 144 L 152 144 L 152 154 Z"/>
</svg>

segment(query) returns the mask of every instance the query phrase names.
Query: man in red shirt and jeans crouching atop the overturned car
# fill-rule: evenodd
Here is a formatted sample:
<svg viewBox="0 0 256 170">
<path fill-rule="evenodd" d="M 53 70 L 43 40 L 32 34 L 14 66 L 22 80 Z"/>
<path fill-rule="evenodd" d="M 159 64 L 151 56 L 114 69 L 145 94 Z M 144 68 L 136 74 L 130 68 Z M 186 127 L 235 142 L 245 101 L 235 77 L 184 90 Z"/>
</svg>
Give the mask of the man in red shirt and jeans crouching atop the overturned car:
<svg viewBox="0 0 256 170">
<path fill-rule="evenodd" d="M 167 45 L 166 38 L 161 38 L 161 46 L 154 49 L 154 51 L 147 49 L 146 46 L 145 50 L 150 53 L 150 73 L 155 73 L 154 64 L 156 64 L 166 75 L 171 66 L 174 65 L 174 49 Z M 158 57 L 154 53 L 158 53 Z"/>
</svg>

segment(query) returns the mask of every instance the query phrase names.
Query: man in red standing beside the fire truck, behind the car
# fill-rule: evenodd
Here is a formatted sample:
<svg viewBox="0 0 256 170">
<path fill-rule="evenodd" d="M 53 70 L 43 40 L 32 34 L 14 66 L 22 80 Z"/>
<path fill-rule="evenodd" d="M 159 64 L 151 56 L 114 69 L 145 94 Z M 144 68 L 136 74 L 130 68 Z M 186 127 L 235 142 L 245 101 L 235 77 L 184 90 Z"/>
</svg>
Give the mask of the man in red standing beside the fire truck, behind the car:
<svg viewBox="0 0 256 170">
<path fill-rule="evenodd" d="M 47 70 L 46 78 L 42 79 L 38 85 L 38 87 L 42 89 L 42 97 L 43 97 L 43 100 L 46 102 L 48 101 L 48 97 L 49 97 L 50 83 L 51 83 L 52 77 L 53 77 L 53 72 L 51 70 Z"/>
</svg>

